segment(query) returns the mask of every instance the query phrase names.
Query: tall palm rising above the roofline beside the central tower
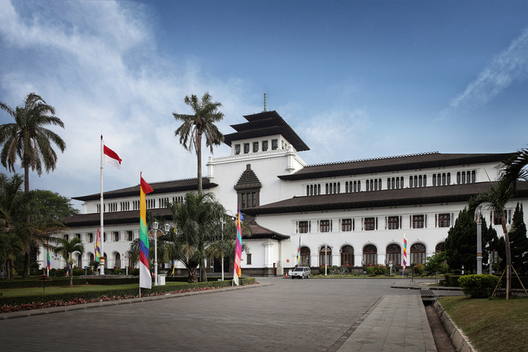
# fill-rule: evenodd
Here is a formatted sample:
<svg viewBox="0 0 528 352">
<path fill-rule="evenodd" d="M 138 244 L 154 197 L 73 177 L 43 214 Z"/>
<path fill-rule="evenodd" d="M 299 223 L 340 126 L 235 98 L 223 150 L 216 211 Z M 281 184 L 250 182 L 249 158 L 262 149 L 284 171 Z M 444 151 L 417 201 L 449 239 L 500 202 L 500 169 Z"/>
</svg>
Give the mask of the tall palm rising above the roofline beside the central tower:
<svg viewBox="0 0 528 352">
<path fill-rule="evenodd" d="M 218 130 L 215 123 L 224 118 L 224 114 L 218 111 L 222 103 L 210 101 L 209 92 L 203 94 L 201 101 L 196 95 L 186 96 L 184 102 L 191 106 L 194 115 L 182 115 L 172 113 L 175 120 L 181 120 L 183 123 L 174 132 L 175 137 L 180 136 L 180 144 L 189 152 L 194 148 L 196 150 L 196 159 L 198 161 L 198 193 L 201 194 L 201 139 L 206 138 L 206 146 L 213 153 L 213 145 L 219 146 L 224 140 L 223 134 Z"/>
</svg>

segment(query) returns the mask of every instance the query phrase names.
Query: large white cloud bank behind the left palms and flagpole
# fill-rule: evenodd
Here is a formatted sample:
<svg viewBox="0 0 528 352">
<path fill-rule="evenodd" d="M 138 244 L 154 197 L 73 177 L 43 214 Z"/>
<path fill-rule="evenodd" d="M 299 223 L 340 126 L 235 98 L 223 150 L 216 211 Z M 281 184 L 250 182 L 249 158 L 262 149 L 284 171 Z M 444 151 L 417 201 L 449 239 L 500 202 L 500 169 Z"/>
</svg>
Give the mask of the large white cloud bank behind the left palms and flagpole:
<svg viewBox="0 0 528 352">
<path fill-rule="evenodd" d="M 101 134 L 123 160 L 121 172 L 105 171 L 106 190 L 137 184 L 140 171 L 148 182 L 196 177 L 196 156 L 174 137 L 172 112 L 191 113 L 184 96 L 208 91 L 221 101 L 225 133 L 231 132 L 227 123 L 239 122 L 239 111 L 253 111 L 241 99 L 243 80 L 203 77 L 193 61 L 175 63 L 158 54 L 142 6 L 60 1 L 50 7 L 43 13 L 34 9 L 39 6 L 0 0 L 0 47 L 9 56 L 32 56 L 39 67 L 0 68 L 7 92 L 1 101 L 17 106 L 36 92 L 65 124 L 65 130 L 54 129 L 67 144 L 57 169 L 42 177 L 32 173 L 32 188 L 70 197 L 97 193 Z M 0 119 L 5 123 L 8 115 Z M 204 164 L 207 156 L 204 151 Z"/>
</svg>

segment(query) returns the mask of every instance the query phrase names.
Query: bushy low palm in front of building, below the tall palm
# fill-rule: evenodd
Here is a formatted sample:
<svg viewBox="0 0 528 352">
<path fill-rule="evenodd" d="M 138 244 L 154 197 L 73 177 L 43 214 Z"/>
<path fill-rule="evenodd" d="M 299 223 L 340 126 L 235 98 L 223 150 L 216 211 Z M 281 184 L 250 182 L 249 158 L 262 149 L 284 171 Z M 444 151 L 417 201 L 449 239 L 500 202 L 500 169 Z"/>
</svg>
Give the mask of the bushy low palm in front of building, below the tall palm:
<svg viewBox="0 0 528 352">
<path fill-rule="evenodd" d="M 167 244 L 170 256 L 180 260 L 189 273 L 189 282 L 198 282 L 196 268 L 200 265 L 201 281 L 207 281 L 208 246 L 220 235 L 220 218 L 225 209 L 213 194 L 185 194 L 183 203 L 168 206 L 176 226 L 176 240 Z"/>
</svg>

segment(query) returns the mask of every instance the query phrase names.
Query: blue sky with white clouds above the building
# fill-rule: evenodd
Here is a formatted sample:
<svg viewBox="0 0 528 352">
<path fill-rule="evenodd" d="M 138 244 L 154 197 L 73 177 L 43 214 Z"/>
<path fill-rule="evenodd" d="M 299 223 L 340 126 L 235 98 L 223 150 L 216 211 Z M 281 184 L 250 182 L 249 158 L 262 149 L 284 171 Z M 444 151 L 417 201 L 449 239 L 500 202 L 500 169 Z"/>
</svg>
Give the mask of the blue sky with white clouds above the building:
<svg viewBox="0 0 528 352">
<path fill-rule="evenodd" d="M 65 128 L 49 129 L 66 143 L 30 187 L 68 197 L 99 193 L 101 134 L 122 158 L 105 191 L 139 172 L 196 177 L 172 113 L 205 92 L 224 134 L 266 93 L 308 164 L 513 152 L 528 144 L 528 1 L 0 0 L 0 101 L 30 92 L 56 108 Z"/>
</svg>

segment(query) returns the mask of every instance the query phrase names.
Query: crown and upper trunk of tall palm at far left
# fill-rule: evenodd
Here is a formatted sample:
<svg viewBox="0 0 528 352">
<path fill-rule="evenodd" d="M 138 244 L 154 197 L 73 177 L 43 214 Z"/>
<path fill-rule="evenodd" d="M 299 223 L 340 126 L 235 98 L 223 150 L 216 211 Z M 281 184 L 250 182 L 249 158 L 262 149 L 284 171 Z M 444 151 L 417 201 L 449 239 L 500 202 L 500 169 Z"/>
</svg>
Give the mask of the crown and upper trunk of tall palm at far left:
<svg viewBox="0 0 528 352">
<path fill-rule="evenodd" d="M 46 172 L 55 170 L 57 154 L 50 142 L 62 152 L 66 149 L 63 139 L 44 126 L 58 125 L 64 128 L 64 123 L 55 116 L 54 107 L 34 93 L 27 94 L 24 106 L 13 109 L 0 101 L 0 108 L 15 119 L 15 123 L 0 125 L 0 144 L 4 145 L 0 161 L 11 172 L 15 170 L 17 158 L 20 158 L 27 193 L 30 191 L 30 168 L 32 171 L 37 170 L 39 176 L 42 175 L 43 166 Z"/>
</svg>

